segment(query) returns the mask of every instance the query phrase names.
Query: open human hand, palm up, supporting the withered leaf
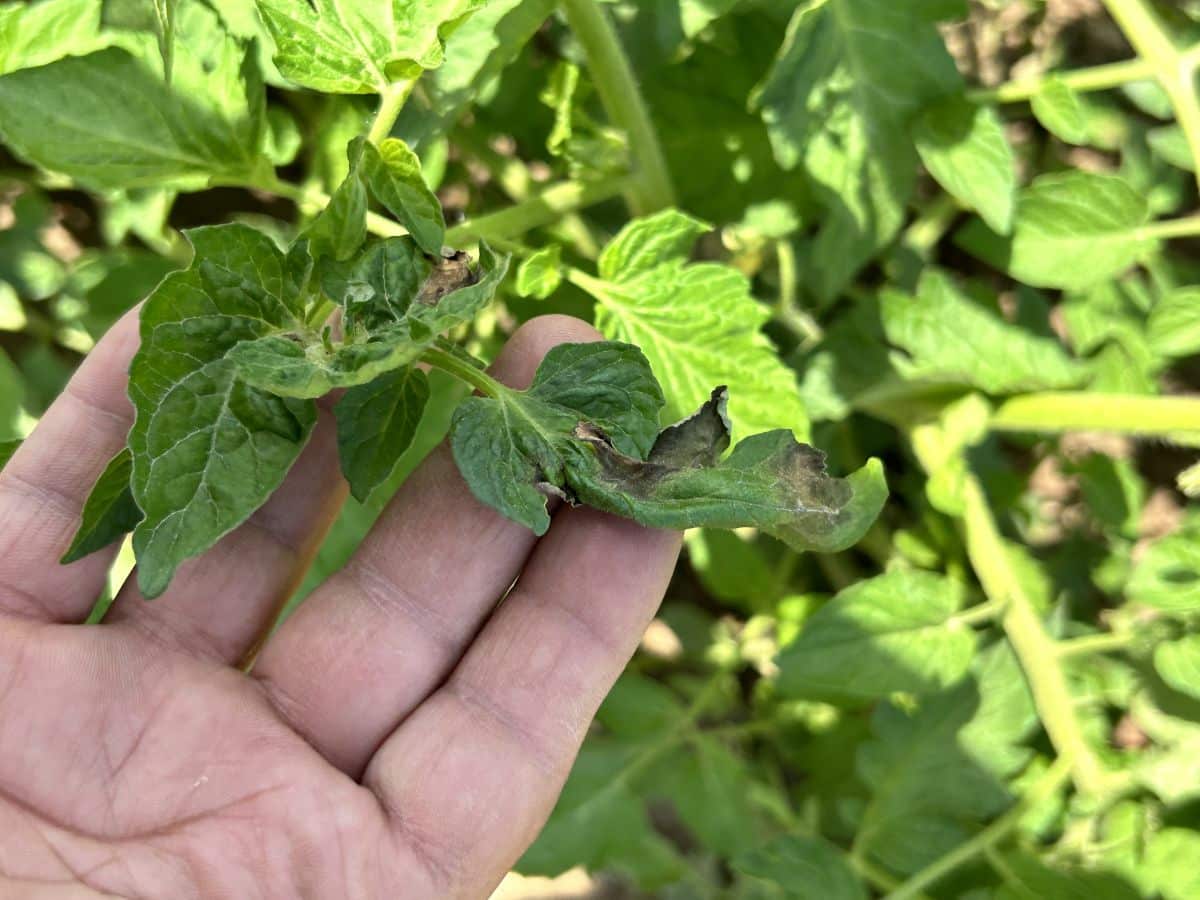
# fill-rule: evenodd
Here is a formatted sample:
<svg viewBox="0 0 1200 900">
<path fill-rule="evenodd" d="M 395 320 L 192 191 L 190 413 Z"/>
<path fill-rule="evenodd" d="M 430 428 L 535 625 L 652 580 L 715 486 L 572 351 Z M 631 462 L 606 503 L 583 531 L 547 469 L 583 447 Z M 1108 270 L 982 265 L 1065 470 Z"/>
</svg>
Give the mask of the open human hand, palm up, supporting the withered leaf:
<svg viewBox="0 0 1200 900">
<path fill-rule="evenodd" d="M 586 324 L 493 367 L 523 386 Z M 266 641 L 346 494 L 328 409 L 277 494 L 152 604 L 56 560 L 125 443 L 126 316 L 0 474 L 0 898 L 484 898 L 553 806 L 670 578 L 674 533 L 541 540 L 443 446 Z M 82 449 L 85 448 L 85 449 Z M 514 581 L 516 587 L 497 607 Z"/>
</svg>

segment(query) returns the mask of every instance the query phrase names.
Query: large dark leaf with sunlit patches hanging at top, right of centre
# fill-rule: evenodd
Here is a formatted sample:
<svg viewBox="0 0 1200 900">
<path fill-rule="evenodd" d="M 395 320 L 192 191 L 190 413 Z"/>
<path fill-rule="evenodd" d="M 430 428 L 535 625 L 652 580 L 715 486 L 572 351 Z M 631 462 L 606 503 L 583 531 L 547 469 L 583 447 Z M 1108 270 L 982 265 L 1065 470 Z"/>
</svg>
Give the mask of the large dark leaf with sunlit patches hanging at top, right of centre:
<svg viewBox="0 0 1200 900">
<path fill-rule="evenodd" d="M 893 0 L 826 0 L 792 16 L 757 92 L 775 158 L 803 166 L 826 208 L 812 289 L 832 300 L 905 220 L 908 120 L 960 78 L 937 16 Z"/>
</svg>

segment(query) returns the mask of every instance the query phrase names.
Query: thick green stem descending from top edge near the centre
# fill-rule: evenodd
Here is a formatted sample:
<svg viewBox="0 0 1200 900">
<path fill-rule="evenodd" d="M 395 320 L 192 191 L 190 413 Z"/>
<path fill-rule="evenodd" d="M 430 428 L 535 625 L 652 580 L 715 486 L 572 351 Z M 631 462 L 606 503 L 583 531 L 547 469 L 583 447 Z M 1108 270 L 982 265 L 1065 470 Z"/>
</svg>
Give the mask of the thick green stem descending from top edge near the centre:
<svg viewBox="0 0 1200 900">
<path fill-rule="evenodd" d="M 634 214 L 644 216 L 673 206 L 674 188 L 666 157 L 612 23 L 596 0 L 563 0 L 563 12 L 587 56 L 605 112 L 629 136 L 637 169 L 637 181 L 628 194 Z"/>
</svg>

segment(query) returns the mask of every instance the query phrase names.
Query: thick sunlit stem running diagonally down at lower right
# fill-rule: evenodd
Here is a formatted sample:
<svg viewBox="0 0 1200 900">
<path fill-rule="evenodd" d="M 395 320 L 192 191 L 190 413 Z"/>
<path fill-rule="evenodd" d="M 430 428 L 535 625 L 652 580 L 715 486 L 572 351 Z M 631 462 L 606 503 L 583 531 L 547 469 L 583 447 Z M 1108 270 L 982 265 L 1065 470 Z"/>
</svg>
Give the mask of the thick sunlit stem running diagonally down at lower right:
<svg viewBox="0 0 1200 900">
<path fill-rule="evenodd" d="M 1058 665 L 1056 644 L 1013 571 L 1008 547 L 992 518 L 983 486 L 973 474 L 966 479 L 965 500 L 967 557 L 988 598 L 1007 604 L 1001 624 L 1025 671 L 1042 725 L 1058 756 L 1070 767 L 1080 792 L 1098 793 L 1105 786 L 1106 773 L 1084 738 L 1067 678 Z"/>
</svg>

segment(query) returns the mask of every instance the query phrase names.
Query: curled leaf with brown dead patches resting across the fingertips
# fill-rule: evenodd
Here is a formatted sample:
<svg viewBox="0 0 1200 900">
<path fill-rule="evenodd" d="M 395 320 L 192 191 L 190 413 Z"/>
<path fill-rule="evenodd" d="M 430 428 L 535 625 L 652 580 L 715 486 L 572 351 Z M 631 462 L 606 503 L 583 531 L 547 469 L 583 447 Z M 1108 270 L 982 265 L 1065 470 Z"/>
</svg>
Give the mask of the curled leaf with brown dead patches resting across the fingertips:
<svg viewBox="0 0 1200 900">
<path fill-rule="evenodd" d="M 661 403 L 635 347 L 564 344 L 528 391 L 463 403 L 451 446 L 475 496 L 538 534 L 550 527 L 546 493 L 656 528 L 757 526 L 797 550 L 848 546 L 878 514 L 887 491 L 877 467 L 857 484 L 832 479 L 822 455 L 790 432 L 749 437 L 721 460 L 724 389 L 659 433 L 643 458 Z"/>
</svg>

